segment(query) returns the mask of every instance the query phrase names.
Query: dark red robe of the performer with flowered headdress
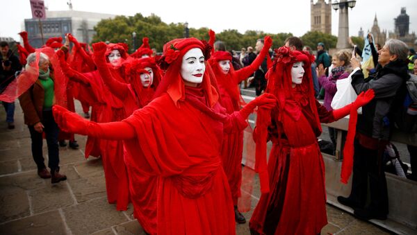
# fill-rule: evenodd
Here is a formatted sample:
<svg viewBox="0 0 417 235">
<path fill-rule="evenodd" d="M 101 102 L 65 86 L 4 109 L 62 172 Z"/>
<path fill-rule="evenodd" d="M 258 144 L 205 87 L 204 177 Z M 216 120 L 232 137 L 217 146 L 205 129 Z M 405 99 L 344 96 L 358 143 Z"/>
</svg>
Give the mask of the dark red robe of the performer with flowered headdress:
<svg viewBox="0 0 417 235">
<path fill-rule="evenodd" d="M 316 139 L 321 131 L 305 96 L 295 97 L 286 100 L 282 122 L 272 118 L 268 128 L 270 192 L 261 195 L 250 220 L 259 234 L 320 234 L 327 225 L 325 165 Z M 334 121 L 317 101 L 316 107 L 321 122 Z"/>
</svg>

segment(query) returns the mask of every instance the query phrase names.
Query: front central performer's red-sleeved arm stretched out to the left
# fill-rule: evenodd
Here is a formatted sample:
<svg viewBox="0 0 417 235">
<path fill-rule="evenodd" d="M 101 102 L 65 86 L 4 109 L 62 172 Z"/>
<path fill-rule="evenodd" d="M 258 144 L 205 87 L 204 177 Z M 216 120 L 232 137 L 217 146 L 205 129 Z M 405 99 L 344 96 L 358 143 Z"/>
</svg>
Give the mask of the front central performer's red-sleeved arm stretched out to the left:
<svg viewBox="0 0 417 235">
<path fill-rule="evenodd" d="M 59 105 L 54 105 L 52 112 L 60 130 L 65 132 L 111 140 L 133 139 L 136 137 L 133 127 L 124 121 L 96 123 L 83 119 L 78 114 L 70 112 L 65 107 Z"/>
</svg>

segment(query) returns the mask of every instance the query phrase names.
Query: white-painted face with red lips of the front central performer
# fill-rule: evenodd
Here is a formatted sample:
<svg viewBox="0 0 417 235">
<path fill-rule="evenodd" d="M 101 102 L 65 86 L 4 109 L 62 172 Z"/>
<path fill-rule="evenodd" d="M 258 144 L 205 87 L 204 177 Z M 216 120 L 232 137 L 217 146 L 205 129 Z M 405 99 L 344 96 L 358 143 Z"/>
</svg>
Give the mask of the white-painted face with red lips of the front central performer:
<svg viewBox="0 0 417 235">
<path fill-rule="evenodd" d="M 204 55 L 201 49 L 193 48 L 182 58 L 181 77 L 187 82 L 199 84 L 203 81 L 206 64 L 204 64 Z"/>
</svg>

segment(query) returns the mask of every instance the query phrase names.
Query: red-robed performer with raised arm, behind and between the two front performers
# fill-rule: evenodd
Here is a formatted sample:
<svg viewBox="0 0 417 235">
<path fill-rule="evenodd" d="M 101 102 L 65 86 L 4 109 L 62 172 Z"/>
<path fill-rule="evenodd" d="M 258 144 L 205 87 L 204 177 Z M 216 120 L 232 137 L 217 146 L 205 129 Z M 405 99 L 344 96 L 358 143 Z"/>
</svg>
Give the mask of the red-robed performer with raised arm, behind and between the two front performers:
<svg viewBox="0 0 417 235">
<path fill-rule="evenodd" d="M 254 73 L 256 69 L 259 69 L 259 66 L 268 54 L 270 46 L 272 46 L 272 39 L 265 37 L 263 49 L 254 62 L 250 66 L 237 71 L 231 66 L 232 58 L 228 51 L 216 51 L 208 60 L 217 80 L 221 97 L 220 104 L 226 109 L 228 114 L 240 110 L 243 100 L 240 96 L 238 84 Z M 245 216 L 238 211 L 238 198 L 240 197 L 240 183 L 242 180 L 242 153 L 243 131 L 224 133 L 221 154 L 222 163 L 224 172 L 229 180 L 237 223 L 246 223 Z"/>
</svg>

